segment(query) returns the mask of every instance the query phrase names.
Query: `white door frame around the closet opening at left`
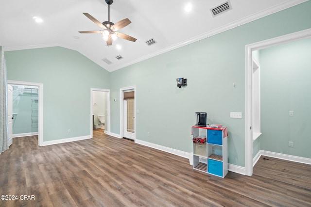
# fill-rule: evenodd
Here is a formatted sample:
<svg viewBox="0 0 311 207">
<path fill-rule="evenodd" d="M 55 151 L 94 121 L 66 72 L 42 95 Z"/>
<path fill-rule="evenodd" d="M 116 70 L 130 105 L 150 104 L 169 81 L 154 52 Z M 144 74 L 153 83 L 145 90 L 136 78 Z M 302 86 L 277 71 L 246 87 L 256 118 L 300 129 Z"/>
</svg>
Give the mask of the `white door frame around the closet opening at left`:
<svg viewBox="0 0 311 207">
<path fill-rule="evenodd" d="M 38 145 L 43 146 L 43 83 L 8 80 L 7 84 L 38 87 Z"/>
</svg>

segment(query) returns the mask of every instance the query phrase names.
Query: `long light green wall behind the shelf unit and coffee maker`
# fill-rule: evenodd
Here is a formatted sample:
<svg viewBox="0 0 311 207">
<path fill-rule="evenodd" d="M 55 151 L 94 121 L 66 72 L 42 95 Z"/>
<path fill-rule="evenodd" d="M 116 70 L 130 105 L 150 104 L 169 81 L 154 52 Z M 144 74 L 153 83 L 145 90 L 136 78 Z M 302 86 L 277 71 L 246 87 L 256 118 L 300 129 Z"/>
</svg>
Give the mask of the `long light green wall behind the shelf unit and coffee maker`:
<svg viewBox="0 0 311 207">
<path fill-rule="evenodd" d="M 244 166 L 245 120 L 229 114 L 244 114 L 245 45 L 311 28 L 310 11 L 307 1 L 112 72 L 111 132 L 120 133 L 119 89 L 135 85 L 137 139 L 191 152 L 194 112 L 206 111 L 208 123 L 228 127 L 228 162 Z M 177 88 L 182 77 L 188 86 Z"/>
</svg>

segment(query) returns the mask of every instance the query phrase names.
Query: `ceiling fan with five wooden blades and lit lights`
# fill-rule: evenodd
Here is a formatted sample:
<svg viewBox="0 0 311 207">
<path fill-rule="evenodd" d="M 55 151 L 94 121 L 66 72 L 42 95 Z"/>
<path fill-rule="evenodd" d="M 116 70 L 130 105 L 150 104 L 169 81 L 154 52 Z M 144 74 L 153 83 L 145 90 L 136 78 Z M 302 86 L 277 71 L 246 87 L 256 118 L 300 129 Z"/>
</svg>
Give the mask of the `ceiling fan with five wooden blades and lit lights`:
<svg viewBox="0 0 311 207">
<path fill-rule="evenodd" d="M 129 25 L 131 21 L 128 18 L 125 18 L 117 22 L 116 24 L 110 22 L 110 5 L 112 4 L 113 0 L 105 0 L 105 1 L 108 4 L 108 21 L 104 21 L 103 23 L 101 23 L 100 21 L 98 21 L 93 16 L 89 15 L 88 13 L 83 13 L 87 18 L 89 18 L 95 24 L 100 26 L 103 29 L 103 31 L 80 31 L 80 33 L 103 33 L 103 39 L 104 41 L 106 41 L 107 46 L 111 46 L 112 40 L 116 39 L 117 37 L 135 42 L 137 40 L 136 38 L 131 37 L 127 34 L 116 32 L 122 29 L 123 27 Z"/>
</svg>

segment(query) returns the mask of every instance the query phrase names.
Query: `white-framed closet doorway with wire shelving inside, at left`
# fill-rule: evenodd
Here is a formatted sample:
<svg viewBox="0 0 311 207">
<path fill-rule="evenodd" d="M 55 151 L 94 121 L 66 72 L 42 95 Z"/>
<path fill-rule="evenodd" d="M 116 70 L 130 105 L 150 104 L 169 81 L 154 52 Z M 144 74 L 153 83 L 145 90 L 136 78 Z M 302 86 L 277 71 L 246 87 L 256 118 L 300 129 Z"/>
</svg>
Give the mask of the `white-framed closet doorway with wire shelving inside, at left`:
<svg viewBox="0 0 311 207">
<path fill-rule="evenodd" d="M 43 84 L 8 80 L 11 85 L 13 138 L 38 135 L 43 145 Z"/>
</svg>

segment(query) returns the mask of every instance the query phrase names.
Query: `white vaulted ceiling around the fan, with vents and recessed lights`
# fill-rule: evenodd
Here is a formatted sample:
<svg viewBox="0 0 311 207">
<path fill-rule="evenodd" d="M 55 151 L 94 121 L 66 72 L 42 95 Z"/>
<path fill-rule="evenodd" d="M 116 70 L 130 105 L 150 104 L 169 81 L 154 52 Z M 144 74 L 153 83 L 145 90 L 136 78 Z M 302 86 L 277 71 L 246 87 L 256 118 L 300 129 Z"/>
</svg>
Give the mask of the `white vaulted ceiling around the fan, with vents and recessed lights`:
<svg viewBox="0 0 311 207">
<path fill-rule="evenodd" d="M 163 52 L 239 26 L 306 0 L 229 0 L 232 9 L 213 17 L 210 9 L 227 0 L 114 0 L 110 21 L 129 18 L 121 33 L 136 42 L 118 38 L 105 46 L 101 30 L 82 13 L 100 22 L 108 20 L 105 0 L 0 0 L 0 45 L 5 51 L 61 46 L 77 50 L 108 71 L 137 63 Z M 184 7 L 192 3 L 192 10 Z M 43 22 L 36 23 L 34 16 Z M 148 46 L 145 41 L 155 39 Z M 121 49 L 117 48 L 117 45 Z M 116 56 L 123 58 L 118 60 Z M 112 64 L 106 64 L 106 58 Z"/>
</svg>

